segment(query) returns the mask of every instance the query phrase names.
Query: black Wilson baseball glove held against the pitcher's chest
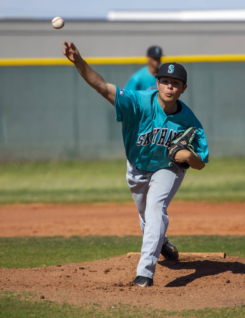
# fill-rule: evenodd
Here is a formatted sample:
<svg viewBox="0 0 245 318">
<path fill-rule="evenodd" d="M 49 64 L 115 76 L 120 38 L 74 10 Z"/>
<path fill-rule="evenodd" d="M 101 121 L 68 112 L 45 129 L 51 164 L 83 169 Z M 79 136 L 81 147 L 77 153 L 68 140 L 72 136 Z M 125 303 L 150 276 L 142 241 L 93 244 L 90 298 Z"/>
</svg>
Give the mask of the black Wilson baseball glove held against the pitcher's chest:
<svg viewBox="0 0 245 318">
<path fill-rule="evenodd" d="M 174 157 L 177 151 L 181 149 L 187 149 L 194 153 L 195 156 L 197 154 L 194 152 L 194 147 L 192 145 L 193 139 L 197 133 L 196 127 L 187 128 L 182 133 L 175 136 L 175 138 L 171 141 L 170 148 L 168 149 L 168 157 L 171 162 L 169 162 L 169 166 L 172 165 L 175 168 L 179 168 L 181 170 L 186 170 L 190 167 L 188 162 L 177 162 Z"/>
</svg>

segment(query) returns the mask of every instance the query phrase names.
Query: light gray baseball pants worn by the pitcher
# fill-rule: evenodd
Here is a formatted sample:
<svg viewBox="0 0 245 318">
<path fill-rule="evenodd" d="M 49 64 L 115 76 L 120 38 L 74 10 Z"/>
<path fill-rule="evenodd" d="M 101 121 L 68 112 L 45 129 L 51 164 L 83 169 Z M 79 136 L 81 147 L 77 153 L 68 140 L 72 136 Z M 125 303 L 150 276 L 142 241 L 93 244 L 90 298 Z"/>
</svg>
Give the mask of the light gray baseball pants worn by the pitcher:
<svg viewBox="0 0 245 318">
<path fill-rule="evenodd" d="M 139 211 L 143 233 L 137 276 L 153 278 L 162 245 L 167 241 L 167 207 L 185 172 L 172 167 L 156 171 L 140 170 L 127 160 L 126 179 Z"/>
</svg>

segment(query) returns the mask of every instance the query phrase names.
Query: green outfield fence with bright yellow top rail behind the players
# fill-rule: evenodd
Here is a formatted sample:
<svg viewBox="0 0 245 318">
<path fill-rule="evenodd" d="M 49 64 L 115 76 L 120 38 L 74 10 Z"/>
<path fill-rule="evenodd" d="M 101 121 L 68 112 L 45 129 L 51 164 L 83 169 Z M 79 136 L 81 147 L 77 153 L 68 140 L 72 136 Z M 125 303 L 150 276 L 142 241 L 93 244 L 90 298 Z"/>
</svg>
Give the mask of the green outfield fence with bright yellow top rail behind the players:
<svg viewBox="0 0 245 318">
<path fill-rule="evenodd" d="M 85 58 L 123 87 L 145 57 Z M 181 95 L 206 132 L 210 156 L 245 156 L 245 55 L 168 56 L 187 69 Z M 123 159 L 112 105 L 61 59 L 0 59 L 0 162 Z"/>
</svg>

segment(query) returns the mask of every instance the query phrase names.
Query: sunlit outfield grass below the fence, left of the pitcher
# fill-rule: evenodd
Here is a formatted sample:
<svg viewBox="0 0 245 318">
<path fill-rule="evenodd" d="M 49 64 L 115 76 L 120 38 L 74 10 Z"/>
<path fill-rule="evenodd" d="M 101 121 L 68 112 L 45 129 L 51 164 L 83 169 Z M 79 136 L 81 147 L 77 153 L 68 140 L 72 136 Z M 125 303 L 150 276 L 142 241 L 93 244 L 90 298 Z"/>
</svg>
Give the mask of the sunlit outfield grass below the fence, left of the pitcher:
<svg viewBox="0 0 245 318">
<path fill-rule="evenodd" d="M 0 166 L 0 204 L 131 201 L 126 162 L 34 162 Z"/>
</svg>

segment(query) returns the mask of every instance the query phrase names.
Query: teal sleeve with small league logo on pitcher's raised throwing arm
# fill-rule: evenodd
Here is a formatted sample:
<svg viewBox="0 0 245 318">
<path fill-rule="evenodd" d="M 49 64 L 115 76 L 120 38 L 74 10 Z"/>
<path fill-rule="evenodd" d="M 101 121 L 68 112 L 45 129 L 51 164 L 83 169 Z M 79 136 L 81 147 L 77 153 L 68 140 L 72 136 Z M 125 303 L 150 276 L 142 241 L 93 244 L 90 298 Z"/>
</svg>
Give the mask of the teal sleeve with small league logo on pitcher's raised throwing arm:
<svg viewBox="0 0 245 318">
<path fill-rule="evenodd" d="M 139 113 L 140 97 L 135 91 L 127 91 L 116 86 L 115 110 L 116 120 L 122 122 L 132 121 Z"/>
</svg>

